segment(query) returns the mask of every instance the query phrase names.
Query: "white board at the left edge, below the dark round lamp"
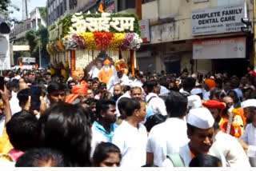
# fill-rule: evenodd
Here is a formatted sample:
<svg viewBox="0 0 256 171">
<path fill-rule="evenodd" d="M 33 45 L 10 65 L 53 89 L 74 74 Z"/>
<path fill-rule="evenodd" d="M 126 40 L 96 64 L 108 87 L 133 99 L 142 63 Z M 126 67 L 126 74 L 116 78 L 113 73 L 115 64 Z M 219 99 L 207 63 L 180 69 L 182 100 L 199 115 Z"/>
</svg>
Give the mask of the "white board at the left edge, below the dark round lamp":
<svg viewBox="0 0 256 171">
<path fill-rule="evenodd" d="M 0 70 L 10 70 L 9 34 L 0 34 Z"/>
</svg>

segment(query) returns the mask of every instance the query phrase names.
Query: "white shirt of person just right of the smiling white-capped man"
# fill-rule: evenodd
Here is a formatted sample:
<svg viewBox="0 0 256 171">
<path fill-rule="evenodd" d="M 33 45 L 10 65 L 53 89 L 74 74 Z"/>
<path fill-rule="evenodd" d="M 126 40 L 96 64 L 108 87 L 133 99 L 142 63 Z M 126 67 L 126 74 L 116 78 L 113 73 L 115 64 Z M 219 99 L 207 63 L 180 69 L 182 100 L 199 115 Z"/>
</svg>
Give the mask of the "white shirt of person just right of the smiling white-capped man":
<svg viewBox="0 0 256 171">
<path fill-rule="evenodd" d="M 215 136 L 214 147 L 223 153 L 227 166 L 250 167 L 249 159 L 244 149 L 242 149 L 242 145 L 230 134 L 219 131 Z"/>
</svg>

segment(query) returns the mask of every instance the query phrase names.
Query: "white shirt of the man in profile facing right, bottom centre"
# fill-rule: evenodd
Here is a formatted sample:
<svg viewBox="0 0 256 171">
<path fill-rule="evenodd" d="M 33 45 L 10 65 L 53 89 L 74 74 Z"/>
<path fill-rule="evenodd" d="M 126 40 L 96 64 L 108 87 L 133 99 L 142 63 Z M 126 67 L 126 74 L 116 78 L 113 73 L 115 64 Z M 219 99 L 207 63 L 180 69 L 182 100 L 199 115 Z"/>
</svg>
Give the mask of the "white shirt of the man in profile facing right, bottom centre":
<svg viewBox="0 0 256 171">
<path fill-rule="evenodd" d="M 141 167 L 146 165 L 146 127 L 139 124 L 138 128 L 127 121 L 114 131 L 113 143 L 122 153 L 121 167 Z"/>
</svg>

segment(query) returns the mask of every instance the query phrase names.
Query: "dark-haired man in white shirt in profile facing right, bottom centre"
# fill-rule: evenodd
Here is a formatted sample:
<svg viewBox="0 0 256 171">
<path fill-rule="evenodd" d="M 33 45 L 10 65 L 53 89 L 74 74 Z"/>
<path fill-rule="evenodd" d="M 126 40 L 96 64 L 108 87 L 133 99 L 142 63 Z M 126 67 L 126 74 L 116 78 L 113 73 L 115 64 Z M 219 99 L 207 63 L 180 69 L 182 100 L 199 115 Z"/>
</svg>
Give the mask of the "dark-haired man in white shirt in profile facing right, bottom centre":
<svg viewBox="0 0 256 171">
<path fill-rule="evenodd" d="M 126 120 L 114 131 L 113 143 L 122 153 L 121 167 L 141 167 L 146 164 L 146 117 L 145 101 L 131 98 L 126 105 Z"/>
</svg>

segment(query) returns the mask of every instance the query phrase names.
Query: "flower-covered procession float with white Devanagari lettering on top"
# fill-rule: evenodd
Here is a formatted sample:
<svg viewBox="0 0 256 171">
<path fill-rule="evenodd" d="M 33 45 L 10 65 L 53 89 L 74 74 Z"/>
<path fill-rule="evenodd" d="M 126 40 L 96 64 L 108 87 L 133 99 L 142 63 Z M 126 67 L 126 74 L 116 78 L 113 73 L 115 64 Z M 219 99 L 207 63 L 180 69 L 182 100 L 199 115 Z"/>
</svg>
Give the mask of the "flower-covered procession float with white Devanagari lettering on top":
<svg viewBox="0 0 256 171">
<path fill-rule="evenodd" d="M 135 51 L 142 44 L 136 14 L 69 14 L 49 29 L 51 72 L 90 70 L 100 54 L 124 59 L 134 76 Z M 68 76 L 66 76 L 68 77 Z"/>
</svg>

